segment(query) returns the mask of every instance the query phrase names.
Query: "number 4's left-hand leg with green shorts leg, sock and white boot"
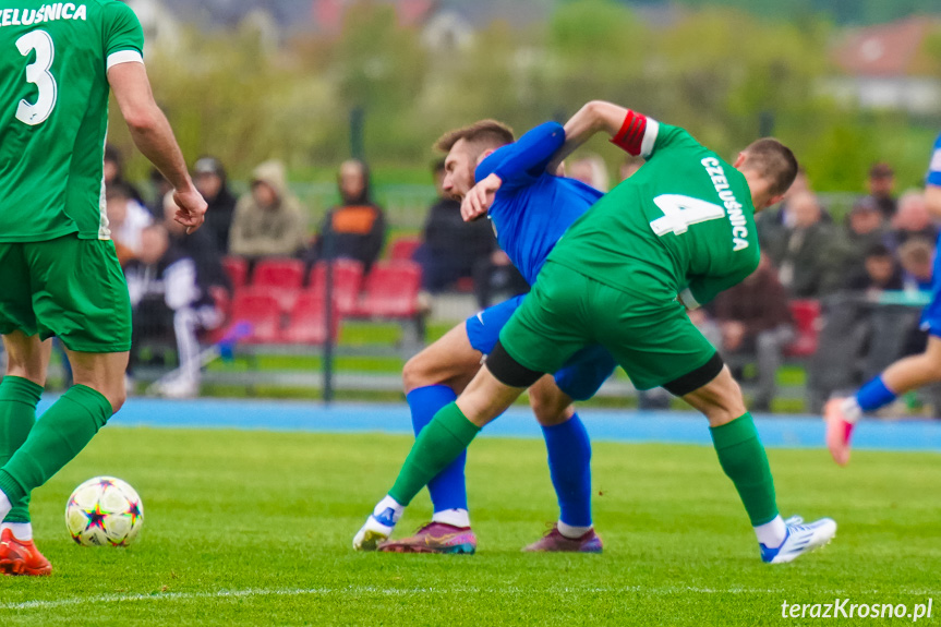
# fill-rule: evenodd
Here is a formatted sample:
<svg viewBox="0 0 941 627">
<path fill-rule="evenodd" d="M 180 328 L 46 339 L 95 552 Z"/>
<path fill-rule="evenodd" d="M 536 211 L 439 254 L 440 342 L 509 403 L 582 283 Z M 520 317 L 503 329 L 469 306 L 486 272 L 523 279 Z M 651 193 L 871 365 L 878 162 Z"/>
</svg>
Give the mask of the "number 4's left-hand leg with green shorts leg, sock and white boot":
<svg viewBox="0 0 941 627">
<path fill-rule="evenodd" d="M 354 548 L 371 551 L 388 538 L 415 494 L 467 448 L 483 425 L 503 413 L 543 373 L 558 370 L 583 346 L 579 333 L 584 327 L 576 314 L 577 300 L 565 302 L 574 291 L 544 275 L 545 270 L 500 333 L 500 342 L 512 341 L 514 355 L 526 354 L 527 363 L 510 355 L 503 343 L 496 345 L 457 401 L 438 411 L 415 439 L 395 485 L 353 539 Z"/>
</svg>

